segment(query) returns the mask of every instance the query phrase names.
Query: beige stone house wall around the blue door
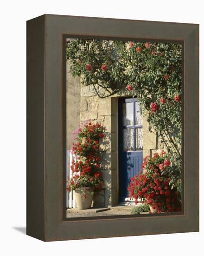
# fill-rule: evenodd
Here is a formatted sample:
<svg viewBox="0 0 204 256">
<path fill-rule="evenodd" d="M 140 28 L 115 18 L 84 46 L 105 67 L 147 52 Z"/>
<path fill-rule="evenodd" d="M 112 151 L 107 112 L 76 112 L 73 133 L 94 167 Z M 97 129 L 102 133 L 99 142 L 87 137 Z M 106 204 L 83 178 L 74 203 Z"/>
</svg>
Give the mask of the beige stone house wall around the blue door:
<svg viewBox="0 0 204 256">
<path fill-rule="evenodd" d="M 68 68 L 69 70 L 69 68 Z M 99 98 L 92 87 L 80 84 L 79 78 L 67 75 L 67 147 L 72 143 L 71 132 L 80 121 L 100 121 L 106 128 L 100 143 L 102 151 L 102 172 L 104 187 L 95 195 L 94 207 L 107 207 L 118 204 L 118 97 L 131 96 L 121 93 L 107 98 Z M 70 139 L 71 138 L 71 139 Z M 150 132 L 147 117 L 143 115 L 143 157 L 153 155 L 163 148 L 157 136 Z"/>
</svg>

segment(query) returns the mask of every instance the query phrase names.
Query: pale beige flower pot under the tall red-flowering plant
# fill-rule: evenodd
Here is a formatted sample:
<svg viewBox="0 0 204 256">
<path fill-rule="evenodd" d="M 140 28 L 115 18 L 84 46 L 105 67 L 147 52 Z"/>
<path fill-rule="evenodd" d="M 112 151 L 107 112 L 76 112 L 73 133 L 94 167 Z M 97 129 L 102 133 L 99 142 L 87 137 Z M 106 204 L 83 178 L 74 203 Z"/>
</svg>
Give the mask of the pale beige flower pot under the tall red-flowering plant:
<svg viewBox="0 0 204 256">
<path fill-rule="evenodd" d="M 83 198 L 84 194 L 85 194 L 86 198 Z M 90 193 L 89 190 L 85 190 L 84 192 L 82 192 L 82 190 L 76 189 L 75 190 L 75 198 L 76 198 L 76 202 L 77 202 L 77 209 L 83 210 L 83 209 L 91 208 L 93 195 Z"/>
</svg>

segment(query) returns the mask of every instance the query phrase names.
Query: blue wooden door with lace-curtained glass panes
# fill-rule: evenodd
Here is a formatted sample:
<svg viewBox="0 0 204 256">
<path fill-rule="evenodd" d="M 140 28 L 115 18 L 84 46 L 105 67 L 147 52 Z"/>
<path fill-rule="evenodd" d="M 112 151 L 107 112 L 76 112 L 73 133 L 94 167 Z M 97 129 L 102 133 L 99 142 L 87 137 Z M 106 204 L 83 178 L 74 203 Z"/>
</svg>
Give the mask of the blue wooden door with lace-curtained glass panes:
<svg viewBox="0 0 204 256">
<path fill-rule="evenodd" d="M 142 116 L 135 98 L 119 98 L 119 202 L 127 200 L 130 179 L 140 173 L 143 158 Z"/>
</svg>

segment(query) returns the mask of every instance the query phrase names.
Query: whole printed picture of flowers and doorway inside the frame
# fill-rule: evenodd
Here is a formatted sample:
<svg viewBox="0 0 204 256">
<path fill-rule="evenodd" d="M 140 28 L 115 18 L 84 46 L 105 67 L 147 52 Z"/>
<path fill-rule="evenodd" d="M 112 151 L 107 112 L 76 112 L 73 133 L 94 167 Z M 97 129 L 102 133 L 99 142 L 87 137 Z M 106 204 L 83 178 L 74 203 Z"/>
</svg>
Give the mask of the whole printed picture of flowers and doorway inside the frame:
<svg viewBox="0 0 204 256">
<path fill-rule="evenodd" d="M 182 46 L 66 39 L 66 217 L 182 211 Z"/>
</svg>

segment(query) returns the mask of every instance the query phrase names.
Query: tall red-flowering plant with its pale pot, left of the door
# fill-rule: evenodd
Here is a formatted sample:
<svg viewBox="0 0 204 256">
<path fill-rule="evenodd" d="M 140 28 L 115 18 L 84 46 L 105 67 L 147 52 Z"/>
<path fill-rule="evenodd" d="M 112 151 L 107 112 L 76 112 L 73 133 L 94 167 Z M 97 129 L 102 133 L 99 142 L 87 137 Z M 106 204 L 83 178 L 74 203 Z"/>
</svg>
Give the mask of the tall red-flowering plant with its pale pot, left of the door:
<svg viewBox="0 0 204 256">
<path fill-rule="evenodd" d="M 86 121 L 77 131 L 72 153 L 72 178 L 67 181 L 67 191 L 74 190 L 78 209 L 89 209 L 93 195 L 103 185 L 99 140 L 104 137 L 104 127 Z"/>
</svg>

